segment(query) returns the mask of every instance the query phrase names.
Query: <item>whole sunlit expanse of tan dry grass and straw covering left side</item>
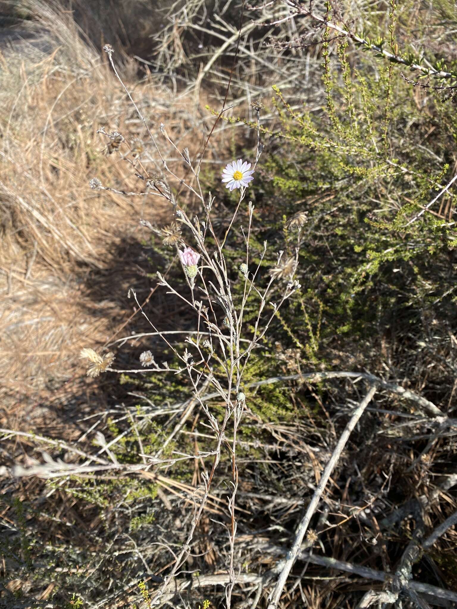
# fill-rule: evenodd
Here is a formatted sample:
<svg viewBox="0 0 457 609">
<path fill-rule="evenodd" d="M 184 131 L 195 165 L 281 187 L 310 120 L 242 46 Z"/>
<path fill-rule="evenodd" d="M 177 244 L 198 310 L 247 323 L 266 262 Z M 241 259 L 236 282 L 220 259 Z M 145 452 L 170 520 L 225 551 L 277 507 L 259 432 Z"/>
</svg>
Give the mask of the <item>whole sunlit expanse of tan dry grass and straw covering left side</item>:
<svg viewBox="0 0 457 609">
<path fill-rule="evenodd" d="M 154 195 L 101 196 L 89 188 L 98 177 L 143 191 L 135 171 L 160 167 L 147 142 L 138 169 L 118 153 L 104 156 L 107 138 L 97 128 L 121 132 L 126 154 L 143 125 L 106 58 L 81 40 L 74 22 L 52 4 L 34 7 L 40 28 L 51 32 L 46 48 L 24 41 L 0 57 L 0 374 L 3 395 L 22 397 L 71 378 L 79 349 L 102 345 L 127 319 L 127 290 L 141 281 L 147 293 L 144 277 L 154 270 L 141 251 L 148 233 L 138 219 L 161 224 L 169 214 Z M 152 130 L 166 122 L 194 154 L 206 99 L 195 104 L 153 77 L 138 85 L 135 65 L 119 60 Z"/>
</svg>

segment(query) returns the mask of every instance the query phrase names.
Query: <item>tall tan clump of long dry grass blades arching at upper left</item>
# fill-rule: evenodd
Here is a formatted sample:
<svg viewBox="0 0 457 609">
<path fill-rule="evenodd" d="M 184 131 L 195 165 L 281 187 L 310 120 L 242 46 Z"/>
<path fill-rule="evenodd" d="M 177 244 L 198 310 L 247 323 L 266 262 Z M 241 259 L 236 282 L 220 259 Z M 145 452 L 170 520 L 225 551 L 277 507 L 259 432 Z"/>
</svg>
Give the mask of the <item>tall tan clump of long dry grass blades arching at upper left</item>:
<svg viewBox="0 0 457 609">
<path fill-rule="evenodd" d="M 97 264 L 102 233 L 90 234 L 87 213 L 96 202 L 85 188 L 100 162 L 95 132 L 99 124 L 122 124 L 128 108 L 71 16 L 57 4 L 30 8 L 54 49 L 47 54 L 24 42 L 4 51 L 2 258 L 24 264 L 36 244 L 38 259 L 50 266 L 69 259 Z M 99 214 L 102 227 L 105 219 L 105 226 L 112 223 L 109 213 Z"/>
</svg>

